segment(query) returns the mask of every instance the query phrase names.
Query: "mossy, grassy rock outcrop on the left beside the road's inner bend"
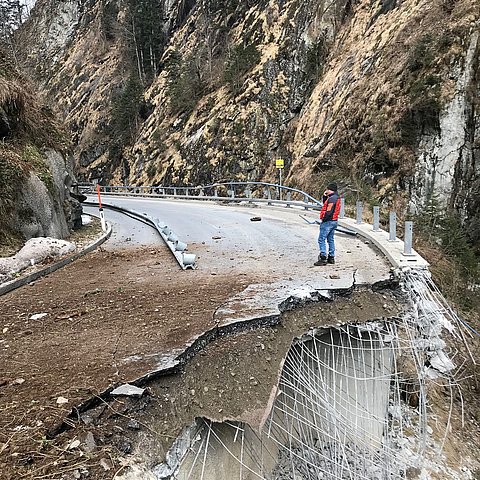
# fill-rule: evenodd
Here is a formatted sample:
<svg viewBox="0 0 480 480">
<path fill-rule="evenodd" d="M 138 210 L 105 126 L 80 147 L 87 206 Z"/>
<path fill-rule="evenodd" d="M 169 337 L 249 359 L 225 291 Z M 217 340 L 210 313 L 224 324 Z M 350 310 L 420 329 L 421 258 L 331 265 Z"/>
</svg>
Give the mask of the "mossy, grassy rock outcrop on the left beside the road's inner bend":
<svg viewBox="0 0 480 480">
<path fill-rule="evenodd" d="M 0 250 L 37 236 L 63 238 L 81 223 L 72 166 L 52 114 L 0 45 Z"/>
</svg>

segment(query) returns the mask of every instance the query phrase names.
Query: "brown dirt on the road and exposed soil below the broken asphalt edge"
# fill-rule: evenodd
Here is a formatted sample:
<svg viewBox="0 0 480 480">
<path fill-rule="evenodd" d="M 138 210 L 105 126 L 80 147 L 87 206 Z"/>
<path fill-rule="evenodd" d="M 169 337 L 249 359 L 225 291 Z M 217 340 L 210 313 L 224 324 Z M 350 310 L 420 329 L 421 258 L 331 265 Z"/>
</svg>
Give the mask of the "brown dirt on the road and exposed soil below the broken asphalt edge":
<svg viewBox="0 0 480 480">
<path fill-rule="evenodd" d="M 166 247 L 100 248 L 0 297 L 0 479 L 113 479 L 133 458 L 156 464 L 195 417 L 258 425 L 293 337 L 402 308 L 388 290 L 299 306 L 278 325 L 212 342 L 141 398 L 99 400 L 51 435 L 75 406 L 214 328 L 215 312 L 258 280 L 182 271 Z"/>
</svg>

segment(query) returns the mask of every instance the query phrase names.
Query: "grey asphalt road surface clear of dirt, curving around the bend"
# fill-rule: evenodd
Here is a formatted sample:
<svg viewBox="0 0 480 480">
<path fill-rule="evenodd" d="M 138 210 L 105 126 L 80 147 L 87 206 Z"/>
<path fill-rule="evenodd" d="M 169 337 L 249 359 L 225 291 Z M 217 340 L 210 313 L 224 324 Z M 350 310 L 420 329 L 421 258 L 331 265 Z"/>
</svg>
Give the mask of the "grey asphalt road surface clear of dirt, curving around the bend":
<svg viewBox="0 0 480 480">
<path fill-rule="evenodd" d="M 179 240 L 188 244 L 188 251 L 197 255 L 198 268 L 191 272 L 192 281 L 195 272 L 253 274 L 258 283 L 224 305 L 223 314 L 219 312 L 224 322 L 238 320 L 240 311 L 245 318 L 276 314 L 278 305 L 292 296 L 326 294 L 332 289 L 348 288 L 354 282 L 373 284 L 390 276 L 390 265 L 382 254 L 364 240 L 340 233 L 336 235 L 337 263 L 314 267 L 318 226 L 307 224 L 299 215 L 315 220 L 317 212 L 247 203 L 138 197 L 104 197 L 103 202 L 146 213 L 168 225 Z M 161 245 L 161 238 L 152 228 L 108 208 L 105 217 L 114 232 L 106 248 Z M 255 217 L 261 220 L 252 221 Z M 173 255 L 170 268 L 177 268 Z M 235 307 L 240 304 L 241 309 Z"/>
</svg>

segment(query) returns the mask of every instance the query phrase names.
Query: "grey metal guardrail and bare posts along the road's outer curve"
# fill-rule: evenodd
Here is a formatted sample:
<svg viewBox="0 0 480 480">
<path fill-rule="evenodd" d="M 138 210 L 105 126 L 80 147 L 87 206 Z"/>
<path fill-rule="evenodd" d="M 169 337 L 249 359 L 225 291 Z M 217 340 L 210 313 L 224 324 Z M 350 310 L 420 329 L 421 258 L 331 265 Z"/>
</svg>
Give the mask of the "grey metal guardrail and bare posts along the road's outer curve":
<svg viewBox="0 0 480 480">
<path fill-rule="evenodd" d="M 82 191 L 93 192 L 93 185 L 82 185 Z M 214 200 L 224 202 L 266 203 L 267 205 L 284 205 L 285 207 L 300 207 L 305 210 L 320 210 L 322 202 L 302 190 L 266 182 L 219 182 L 202 186 L 100 186 L 100 192 L 106 195 L 182 198 L 187 200 Z M 372 228 L 363 222 L 364 206 L 358 201 L 355 208 L 355 218 L 345 217 L 345 199 L 341 198 L 339 225 L 356 232 L 358 235 L 372 241 L 398 268 L 405 266 L 427 268 L 428 262 L 412 248 L 413 223 L 405 222 L 404 240 L 397 239 L 397 216 L 389 212 L 389 231 L 380 229 L 380 207 L 373 207 Z M 311 223 L 311 222 L 309 222 Z"/>
</svg>

